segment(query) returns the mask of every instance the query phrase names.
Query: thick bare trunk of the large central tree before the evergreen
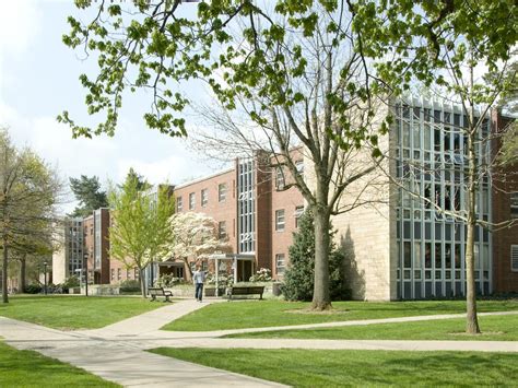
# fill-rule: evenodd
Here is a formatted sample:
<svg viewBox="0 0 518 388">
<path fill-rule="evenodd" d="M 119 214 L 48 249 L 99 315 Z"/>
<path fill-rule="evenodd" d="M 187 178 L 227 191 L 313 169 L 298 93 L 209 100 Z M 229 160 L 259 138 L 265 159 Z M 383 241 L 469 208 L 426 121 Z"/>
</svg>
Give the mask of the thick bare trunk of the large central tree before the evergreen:
<svg viewBox="0 0 518 388">
<path fill-rule="evenodd" d="M 317 205 L 315 217 L 315 284 L 311 308 L 315 310 L 330 309 L 331 294 L 329 291 L 329 225 L 328 209 Z"/>
</svg>

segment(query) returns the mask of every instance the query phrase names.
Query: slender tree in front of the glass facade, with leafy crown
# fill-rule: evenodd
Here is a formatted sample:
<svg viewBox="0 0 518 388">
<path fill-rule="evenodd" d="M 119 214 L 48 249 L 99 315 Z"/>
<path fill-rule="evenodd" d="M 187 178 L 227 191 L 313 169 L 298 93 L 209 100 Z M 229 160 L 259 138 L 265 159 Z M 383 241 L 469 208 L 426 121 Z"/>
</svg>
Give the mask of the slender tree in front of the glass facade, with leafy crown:
<svg viewBox="0 0 518 388">
<path fill-rule="evenodd" d="M 365 56 L 397 96 L 421 84 L 460 106 L 466 117 L 464 126 L 457 129 L 466 139 L 467 204 L 449 213 L 467 225 L 467 332 L 476 333 L 474 232 L 476 225 L 490 226 L 479 217 L 475 204 L 482 181 L 491 174 L 491 138 L 482 127 L 499 96 L 516 89 L 516 77 L 506 77 L 506 69 L 518 39 L 518 5 L 513 0 L 419 4 L 400 0 L 368 1 L 366 8 L 353 3 L 351 10 L 355 31 L 370 48 Z"/>
</svg>

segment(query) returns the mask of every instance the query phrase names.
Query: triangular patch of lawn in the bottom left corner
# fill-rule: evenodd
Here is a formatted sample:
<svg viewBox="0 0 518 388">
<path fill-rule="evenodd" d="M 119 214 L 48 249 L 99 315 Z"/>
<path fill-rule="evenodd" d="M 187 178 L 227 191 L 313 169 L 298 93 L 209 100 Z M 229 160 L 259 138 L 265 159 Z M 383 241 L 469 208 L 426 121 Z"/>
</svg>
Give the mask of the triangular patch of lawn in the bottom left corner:
<svg viewBox="0 0 518 388">
<path fill-rule="evenodd" d="M 0 387 L 119 387 L 70 364 L 0 341 Z"/>
</svg>

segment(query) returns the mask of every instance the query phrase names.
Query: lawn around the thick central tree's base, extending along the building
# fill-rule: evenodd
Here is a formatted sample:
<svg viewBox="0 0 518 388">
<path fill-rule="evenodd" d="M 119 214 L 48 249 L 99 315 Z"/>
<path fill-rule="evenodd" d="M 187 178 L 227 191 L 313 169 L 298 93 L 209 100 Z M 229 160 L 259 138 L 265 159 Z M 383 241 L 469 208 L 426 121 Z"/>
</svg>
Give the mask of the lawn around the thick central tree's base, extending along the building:
<svg viewBox="0 0 518 388">
<path fill-rule="evenodd" d="M 162 329 L 210 331 L 466 311 L 466 302 L 462 301 L 334 302 L 332 314 L 308 314 L 305 311 L 308 306 L 309 303 L 283 301 L 216 303 L 175 320 Z M 478 309 L 479 311 L 518 310 L 518 301 L 480 301 Z"/>
</svg>

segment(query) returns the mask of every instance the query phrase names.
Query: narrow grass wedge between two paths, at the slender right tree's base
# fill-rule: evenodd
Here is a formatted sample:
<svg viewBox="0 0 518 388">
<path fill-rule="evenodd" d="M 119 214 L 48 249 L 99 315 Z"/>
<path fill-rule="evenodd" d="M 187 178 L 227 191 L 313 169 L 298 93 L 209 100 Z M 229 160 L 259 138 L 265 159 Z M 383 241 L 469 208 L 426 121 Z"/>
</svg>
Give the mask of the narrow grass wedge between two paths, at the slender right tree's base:
<svg viewBox="0 0 518 388">
<path fill-rule="evenodd" d="M 280 330 L 226 337 L 319 340 L 518 341 L 518 315 L 479 317 L 479 324 L 482 330 L 480 336 L 464 334 L 466 319 L 445 319 L 329 329 Z"/>
</svg>

